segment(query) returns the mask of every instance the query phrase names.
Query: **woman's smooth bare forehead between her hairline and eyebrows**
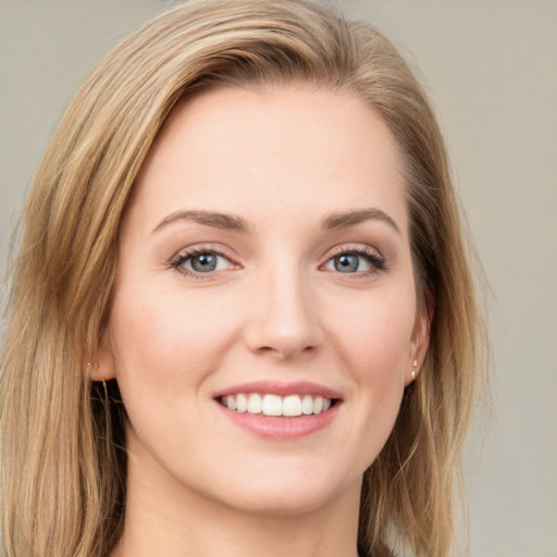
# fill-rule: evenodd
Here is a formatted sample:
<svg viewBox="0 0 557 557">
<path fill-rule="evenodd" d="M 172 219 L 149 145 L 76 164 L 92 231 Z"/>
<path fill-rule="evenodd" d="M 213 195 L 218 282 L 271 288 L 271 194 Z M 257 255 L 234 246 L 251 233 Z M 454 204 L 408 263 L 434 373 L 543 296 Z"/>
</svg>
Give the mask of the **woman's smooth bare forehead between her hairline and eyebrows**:
<svg viewBox="0 0 557 557">
<path fill-rule="evenodd" d="M 309 221 L 377 207 L 406 228 L 399 168 L 388 127 L 355 94 L 221 88 L 173 109 L 138 175 L 132 212 L 154 225 L 178 209 L 265 222 L 277 212 Z"/>
</svg>

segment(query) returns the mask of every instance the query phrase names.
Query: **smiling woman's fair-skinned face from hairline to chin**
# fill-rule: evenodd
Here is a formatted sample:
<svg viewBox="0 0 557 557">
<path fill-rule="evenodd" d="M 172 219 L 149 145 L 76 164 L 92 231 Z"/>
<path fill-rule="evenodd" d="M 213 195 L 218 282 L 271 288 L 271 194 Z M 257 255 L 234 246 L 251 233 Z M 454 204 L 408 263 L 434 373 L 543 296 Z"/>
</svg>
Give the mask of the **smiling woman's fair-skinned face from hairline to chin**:
<svg viewBox="0 0 557 557">
<path fill-rule="evenodd" d="M 426 345 L 383 121 L 304 85 L 181 103 L 119 253 L 99 373 L 131 466 L 260 512 L 357 498 Z"/>
</svg>

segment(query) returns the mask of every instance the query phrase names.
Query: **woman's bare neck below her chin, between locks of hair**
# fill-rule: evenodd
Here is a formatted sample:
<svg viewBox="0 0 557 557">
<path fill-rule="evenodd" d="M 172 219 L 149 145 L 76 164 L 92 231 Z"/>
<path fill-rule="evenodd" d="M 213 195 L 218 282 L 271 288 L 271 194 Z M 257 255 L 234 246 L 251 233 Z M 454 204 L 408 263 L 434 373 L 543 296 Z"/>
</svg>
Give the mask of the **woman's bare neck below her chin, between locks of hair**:
<svg viewBox="0 0 557 557">
<path fill-rule="evenodd" d="M 360 482 L 314 509 L 237 509 L 128 460 L 124 533 L 111 557 L 357 557 Z"/>
</svg>

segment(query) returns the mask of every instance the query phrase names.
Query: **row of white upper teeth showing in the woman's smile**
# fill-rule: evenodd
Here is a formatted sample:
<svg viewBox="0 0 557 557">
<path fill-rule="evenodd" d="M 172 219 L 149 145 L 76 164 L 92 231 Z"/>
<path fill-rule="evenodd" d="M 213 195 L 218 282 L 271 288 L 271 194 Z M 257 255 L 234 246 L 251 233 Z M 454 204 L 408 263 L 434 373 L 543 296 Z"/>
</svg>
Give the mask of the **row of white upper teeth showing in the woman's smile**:
<svg viewBox="0 0 557 557">
<path fill-rule="evenodd" d="M 278 396 L 259 393 L 237 393 L 221 396 L 218 401 L 228 410 L 252 414 L 288 417 L 313 416 L 326 412 L 336 399 L 320 395 Z"/>
</svg>

